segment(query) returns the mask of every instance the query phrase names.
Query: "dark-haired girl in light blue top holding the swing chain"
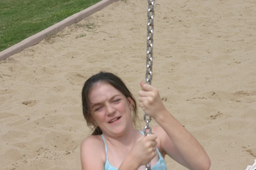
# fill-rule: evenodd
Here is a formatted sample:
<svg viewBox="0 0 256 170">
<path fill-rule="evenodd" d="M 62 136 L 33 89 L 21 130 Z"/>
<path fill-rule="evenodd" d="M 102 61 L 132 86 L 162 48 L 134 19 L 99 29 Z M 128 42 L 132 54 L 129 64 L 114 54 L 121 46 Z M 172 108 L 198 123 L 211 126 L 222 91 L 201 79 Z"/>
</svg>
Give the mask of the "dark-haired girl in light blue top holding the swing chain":
<svg viewBox="0 0 256 170">
<path fill-rule="evenodd" d="M 166 154 L 188 169 L 209 170 L 208 155 L 166 110 L 158 90 L 140 86 L 138 105 L 159 124 L 147 136 L 133 127 L 137 105 L 120 78 L 100 72 L 85 82 L 83 114 L 95 130 L 81 144 L 82 170 L 141 170 L 149 162 L 152 170 L 166 170 Z"/>
</svg>

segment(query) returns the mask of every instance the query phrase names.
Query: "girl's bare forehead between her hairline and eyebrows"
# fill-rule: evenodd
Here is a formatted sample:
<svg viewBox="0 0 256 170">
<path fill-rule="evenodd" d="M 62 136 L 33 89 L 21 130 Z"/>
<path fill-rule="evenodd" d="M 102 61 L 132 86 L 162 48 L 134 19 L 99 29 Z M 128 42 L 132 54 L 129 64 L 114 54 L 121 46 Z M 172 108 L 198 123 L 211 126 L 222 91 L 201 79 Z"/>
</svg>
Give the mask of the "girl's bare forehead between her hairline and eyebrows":
<svg viewBox="0 0 256 170">
<path fill-rule="evenodd" d="M 111 84 L 106 82 L 96 83 L 89 93 L 89 100 L 91 103 L 99 103 L 110 99 L 114 95 L 123 95 L 120 91 L 114 88 Z"/>
</svg>

